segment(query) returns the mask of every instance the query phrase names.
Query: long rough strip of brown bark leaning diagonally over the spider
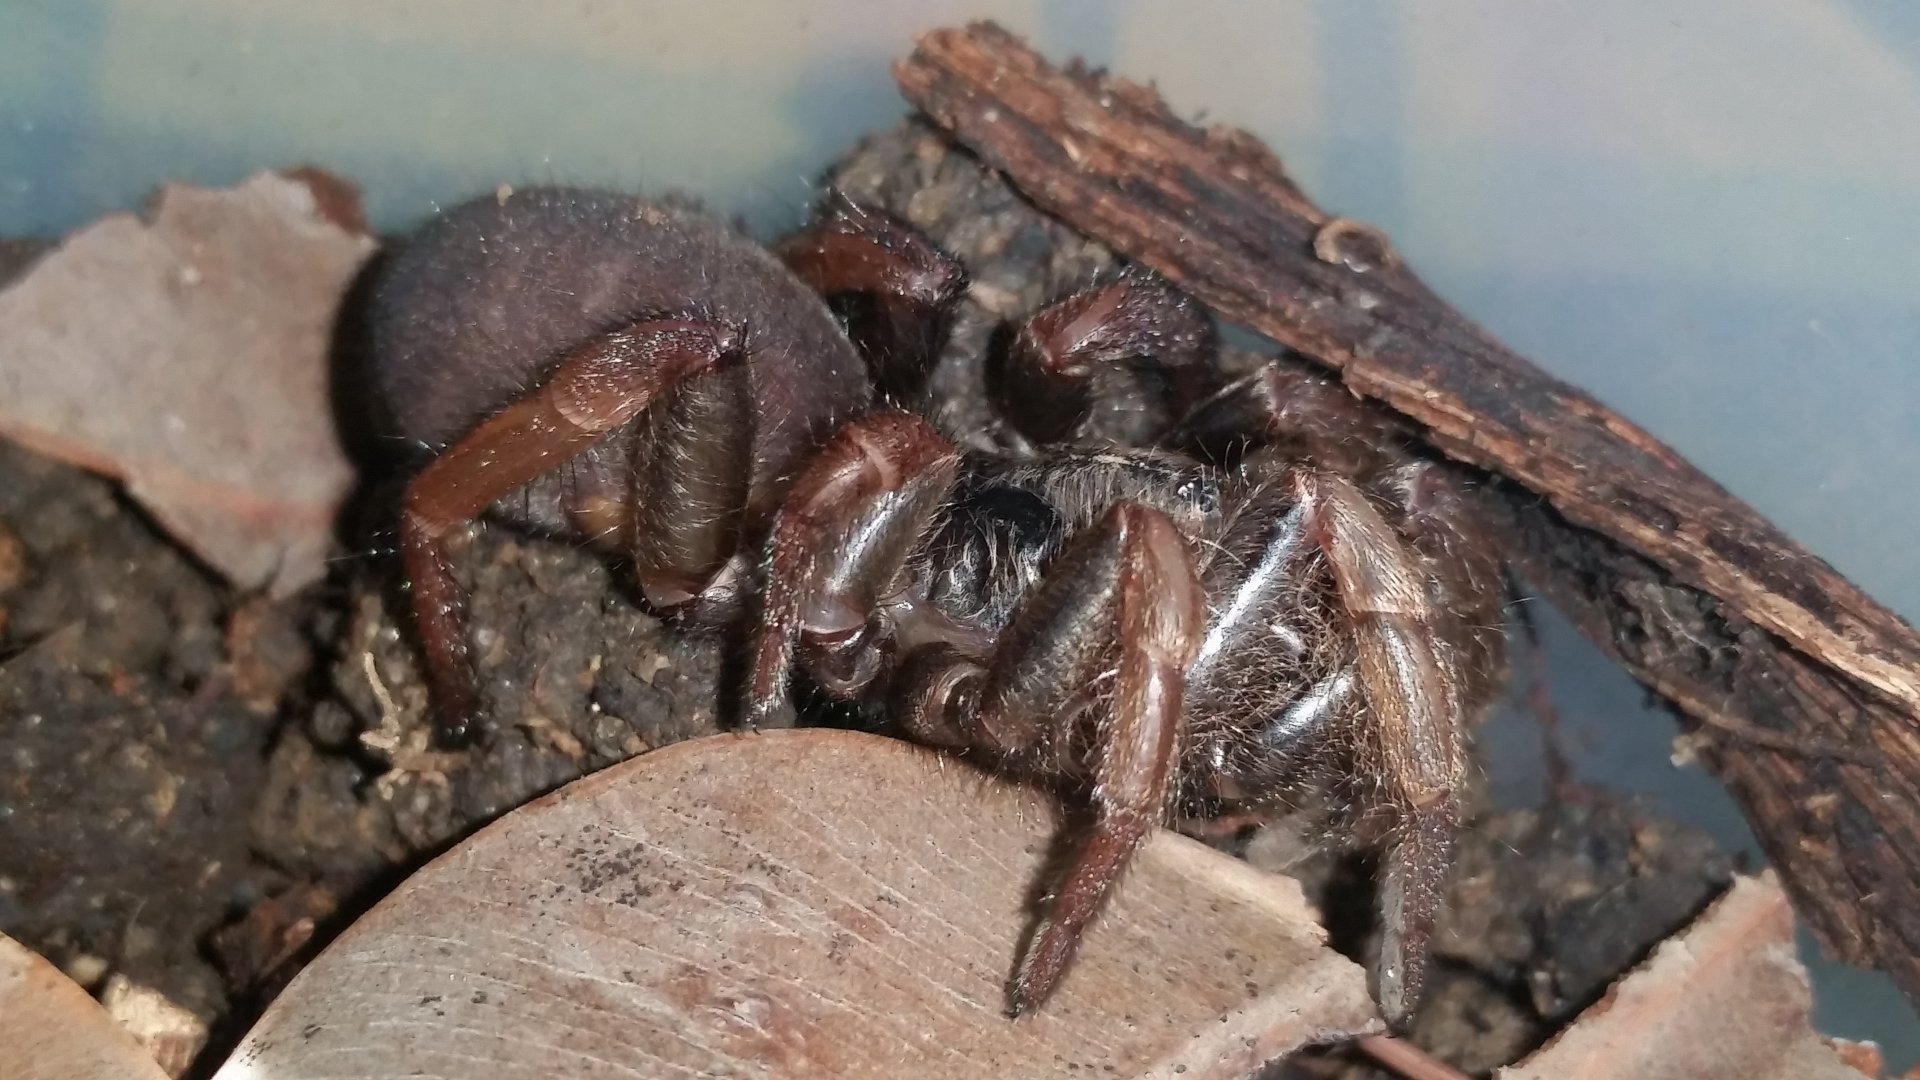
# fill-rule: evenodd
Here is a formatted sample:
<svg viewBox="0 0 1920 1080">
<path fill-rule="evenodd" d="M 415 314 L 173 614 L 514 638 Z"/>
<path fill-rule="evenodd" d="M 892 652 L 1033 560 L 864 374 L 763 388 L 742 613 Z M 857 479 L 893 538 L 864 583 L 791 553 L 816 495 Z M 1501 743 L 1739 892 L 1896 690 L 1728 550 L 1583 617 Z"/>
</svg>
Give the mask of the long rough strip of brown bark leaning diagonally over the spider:
<svg viewBox="0 0 1920 1080">
<path fill-rule="evenodd" d="M 1060 69 L 993 25 L 925 35 L 906 98 L 1041 209 L 1340 373 L 1440 452 L 1601 648 L 1703 724 L 1822 944 L 1920 999 L 1920 636 L 1653 436 L 1475 327 L 1254 136 Z"/>
</svg>

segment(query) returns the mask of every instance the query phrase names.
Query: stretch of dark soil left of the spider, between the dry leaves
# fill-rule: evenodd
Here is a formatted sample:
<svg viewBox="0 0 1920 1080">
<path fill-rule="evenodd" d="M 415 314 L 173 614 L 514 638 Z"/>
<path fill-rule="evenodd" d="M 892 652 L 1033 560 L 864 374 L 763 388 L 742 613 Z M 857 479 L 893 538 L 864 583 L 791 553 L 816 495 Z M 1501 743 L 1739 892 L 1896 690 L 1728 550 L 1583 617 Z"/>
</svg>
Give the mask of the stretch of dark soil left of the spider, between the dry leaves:
<svg viewBox="0 0 1920 1080">
<path fill-rule="evenodd" d="M 465 565 L 484 701 L 518 721 L 436 753 L 388 559 L 248 598 L 113 484 L 0 444 L 0 930 L 215 1022 L 474 826 L 718 730 L 718 642 L 614 567 L 486 528 Z"/>
</svg>

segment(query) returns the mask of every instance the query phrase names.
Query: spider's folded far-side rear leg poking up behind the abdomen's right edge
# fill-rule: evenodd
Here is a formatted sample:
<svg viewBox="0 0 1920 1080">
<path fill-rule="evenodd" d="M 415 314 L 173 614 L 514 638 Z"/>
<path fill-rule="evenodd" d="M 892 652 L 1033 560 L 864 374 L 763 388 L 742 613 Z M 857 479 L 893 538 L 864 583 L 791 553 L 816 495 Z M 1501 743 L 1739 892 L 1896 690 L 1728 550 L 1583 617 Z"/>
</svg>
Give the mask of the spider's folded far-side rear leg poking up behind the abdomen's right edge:
<svg viewBox="0 0 1920 1080">
<path fill-rule="evenodd" d="M 916 229 L 841 194 L 776 254 L 847 321 L 874 384 L 889 400 L 918 402 L 966 294 L 966 269 Z"/>
</svg>

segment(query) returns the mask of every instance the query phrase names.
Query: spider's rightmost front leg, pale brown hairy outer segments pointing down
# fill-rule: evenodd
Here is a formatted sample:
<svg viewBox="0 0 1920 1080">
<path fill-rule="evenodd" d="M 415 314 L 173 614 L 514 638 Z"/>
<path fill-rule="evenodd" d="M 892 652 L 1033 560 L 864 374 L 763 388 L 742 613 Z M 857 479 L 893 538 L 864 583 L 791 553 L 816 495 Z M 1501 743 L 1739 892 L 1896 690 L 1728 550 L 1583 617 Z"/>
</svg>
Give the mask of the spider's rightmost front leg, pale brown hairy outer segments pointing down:
<svg viewBox="0 0 1920 1080">
<path fill-rule="evenodd" d="M 1419 1001 L 1467 771 L 1459 673 L 1436 650 L 1436 623 L 1413 552 L 1350 480 L 1294 473 L 1298 505 L 1354 617 L 1356 675 L 1367 701 L 1359 769 L 1392 815 L 1380 882 L 1379 999 L 1404 1022 Z"/>
</svg>

